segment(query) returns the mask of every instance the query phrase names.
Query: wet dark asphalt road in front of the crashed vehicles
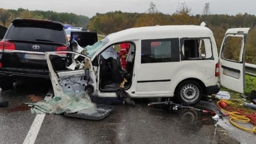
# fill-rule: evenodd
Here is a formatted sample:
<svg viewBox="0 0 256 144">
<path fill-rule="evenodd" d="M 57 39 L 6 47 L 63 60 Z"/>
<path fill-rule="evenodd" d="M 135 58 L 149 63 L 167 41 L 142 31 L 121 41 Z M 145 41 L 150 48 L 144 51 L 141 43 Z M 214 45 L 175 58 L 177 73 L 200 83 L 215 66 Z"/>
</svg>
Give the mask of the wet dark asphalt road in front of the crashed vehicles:
<svg viewBox="0 0 256 144">
<path fill-rule="evenodd" d="M 49 88 L 49 83 L 29 81 L 1 93 L 9 106 L 0 108 L 0 143 L 23 143 L 36 115 L 22 103 L 44 99 Z M 149 102 L 138 99 L 135 107 L 115 106 L 100 121 L 45 115 L 35 143 L 239 143 L 223 134 L 211 116 L 188 109 L 168 113 L 148 108 Z"/>
</svg>

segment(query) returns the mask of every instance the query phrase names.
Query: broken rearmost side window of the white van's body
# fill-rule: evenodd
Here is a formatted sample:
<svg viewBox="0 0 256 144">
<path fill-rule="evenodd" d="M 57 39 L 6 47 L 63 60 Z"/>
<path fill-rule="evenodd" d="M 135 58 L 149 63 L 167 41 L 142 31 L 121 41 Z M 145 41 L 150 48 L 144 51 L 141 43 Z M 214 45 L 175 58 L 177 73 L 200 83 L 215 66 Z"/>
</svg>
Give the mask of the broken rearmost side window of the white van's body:
<svg viewBox="0 0 256 144">
<path fill-rule="evenodd" d="M 212 59 L 212 44 L 209 38 L 186 39 L 182 45 L 184 60 Z"/>
</svg>

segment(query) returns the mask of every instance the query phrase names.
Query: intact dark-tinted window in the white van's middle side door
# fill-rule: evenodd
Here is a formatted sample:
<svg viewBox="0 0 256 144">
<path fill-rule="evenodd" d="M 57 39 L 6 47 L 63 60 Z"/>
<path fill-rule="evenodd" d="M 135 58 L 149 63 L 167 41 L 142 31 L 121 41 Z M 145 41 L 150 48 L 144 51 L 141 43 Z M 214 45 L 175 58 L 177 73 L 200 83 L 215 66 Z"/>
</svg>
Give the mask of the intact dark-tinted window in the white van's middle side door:
<svg viewBox="0 0 256 144">
<path fill-rule="evenodd" d="M 145 40 L 142 42 L 141 63 L 164 63 L 171 60 L 171 40 Z"/>
</svg>

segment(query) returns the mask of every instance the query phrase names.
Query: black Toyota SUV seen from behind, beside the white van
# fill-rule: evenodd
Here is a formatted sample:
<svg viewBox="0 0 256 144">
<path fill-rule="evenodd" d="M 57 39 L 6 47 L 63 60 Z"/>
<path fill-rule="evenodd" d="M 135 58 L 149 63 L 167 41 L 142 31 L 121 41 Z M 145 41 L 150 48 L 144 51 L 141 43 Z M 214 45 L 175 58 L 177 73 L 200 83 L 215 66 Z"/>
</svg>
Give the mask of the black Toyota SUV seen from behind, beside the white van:
<svg viewBox="0 0 256 144">
<path fill-rule="evenodd" d="M 68 50 L 63 24 L 50 20 L 14 19 L 0 40 L 0 87 L 3 90 L 11 89 L 13 82 L 20 78 L 48 79 L 45 52 Z M 57 57 L 54 65 L 65 67 L 61 64 L 65 56 Z"/>
</svg>

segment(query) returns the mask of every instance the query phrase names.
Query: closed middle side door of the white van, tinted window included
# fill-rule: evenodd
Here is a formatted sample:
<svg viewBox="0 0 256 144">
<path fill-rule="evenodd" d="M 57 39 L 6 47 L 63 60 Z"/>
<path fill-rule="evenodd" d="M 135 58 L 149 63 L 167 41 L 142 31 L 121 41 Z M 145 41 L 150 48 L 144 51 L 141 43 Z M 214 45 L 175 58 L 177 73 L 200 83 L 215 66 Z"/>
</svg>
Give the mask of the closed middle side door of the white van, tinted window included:
<svg viewBox="0 0 256 144">
<path fill-rule="evenodd" d="M 141 40 L 136 60 L 136 95 L 170 96 L 172 63 L 180 61 L 179 38 Z"/>
</svg>

